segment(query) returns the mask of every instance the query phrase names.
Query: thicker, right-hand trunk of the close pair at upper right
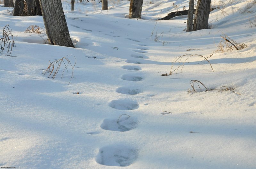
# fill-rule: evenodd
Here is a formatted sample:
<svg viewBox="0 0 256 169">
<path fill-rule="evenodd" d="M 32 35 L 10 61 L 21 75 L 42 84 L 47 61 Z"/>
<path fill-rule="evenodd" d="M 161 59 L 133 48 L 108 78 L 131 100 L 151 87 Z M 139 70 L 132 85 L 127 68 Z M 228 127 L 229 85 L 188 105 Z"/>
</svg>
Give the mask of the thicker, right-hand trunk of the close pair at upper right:
<svg viewBox="0 0 256 169">
<path fill-rule="evenodd" d="M 211 0 L 198 0 L 196 5 L 193 31 L 208 28 Z"/>
</svg>

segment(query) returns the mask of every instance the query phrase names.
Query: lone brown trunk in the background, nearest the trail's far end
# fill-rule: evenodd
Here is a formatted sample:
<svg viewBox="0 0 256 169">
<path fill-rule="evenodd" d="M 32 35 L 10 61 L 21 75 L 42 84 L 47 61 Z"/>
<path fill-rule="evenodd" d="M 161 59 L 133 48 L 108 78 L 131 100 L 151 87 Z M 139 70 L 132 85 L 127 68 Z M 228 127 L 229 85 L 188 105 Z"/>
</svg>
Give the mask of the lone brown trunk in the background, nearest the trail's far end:
<svg viewBox="0 0 256 169">
<path fill-rule="evenodd" d="M 143 0 L 131 0 L 129 18 L 141 18 Z"/>
</svg>

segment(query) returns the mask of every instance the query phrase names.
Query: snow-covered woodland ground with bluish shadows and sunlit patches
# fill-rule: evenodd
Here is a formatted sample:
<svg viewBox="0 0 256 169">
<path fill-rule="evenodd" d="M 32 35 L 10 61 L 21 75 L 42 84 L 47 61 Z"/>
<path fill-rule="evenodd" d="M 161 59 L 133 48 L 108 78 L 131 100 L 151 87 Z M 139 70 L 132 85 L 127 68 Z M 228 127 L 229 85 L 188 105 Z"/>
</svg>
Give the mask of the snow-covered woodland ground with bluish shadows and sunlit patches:
<svg viewBox="0 0 256 169">
<path fill-rule="evenodd" d="M 183 31 L 187 16 L 156 22 L 188 0 L 144 0 L 142 19 L 127 18 L 126 0 L 109 0 L 107 11 L 62 3 L 75 48 L 24 33 L 43 18 L 13 17 L 1 4 L 1 30 L 10 25 L 16 44 L 0 55 L 1 167 L 255 168 L 255 0 L 212 0 L 212 29 L 195 32 Z M 223 33 L 248 47 L 214 53 Z M 161 76 L 178 56 L 212 53 L 214 72 L 193 56 Z M 70 65 L 63 78 L 64 67 L 55 79 L 42 74 L 65 56 L 76 61 L 71 81 Z M 188 93 L 191 80 L 234 90 Z"/>
</svg>

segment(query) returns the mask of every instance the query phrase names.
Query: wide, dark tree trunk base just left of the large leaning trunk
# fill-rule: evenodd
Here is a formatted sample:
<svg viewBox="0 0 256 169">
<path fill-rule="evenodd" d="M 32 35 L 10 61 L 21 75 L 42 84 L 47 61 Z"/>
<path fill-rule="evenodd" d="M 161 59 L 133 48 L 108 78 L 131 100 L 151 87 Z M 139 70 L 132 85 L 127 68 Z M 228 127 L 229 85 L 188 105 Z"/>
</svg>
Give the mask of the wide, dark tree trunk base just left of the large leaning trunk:
<svg viewBox="0 0 256 169">
<path fill-rule="evenodd" d="M 39 0 L 15 0 L 13 16 L 41 15 Z"/>
</svg>

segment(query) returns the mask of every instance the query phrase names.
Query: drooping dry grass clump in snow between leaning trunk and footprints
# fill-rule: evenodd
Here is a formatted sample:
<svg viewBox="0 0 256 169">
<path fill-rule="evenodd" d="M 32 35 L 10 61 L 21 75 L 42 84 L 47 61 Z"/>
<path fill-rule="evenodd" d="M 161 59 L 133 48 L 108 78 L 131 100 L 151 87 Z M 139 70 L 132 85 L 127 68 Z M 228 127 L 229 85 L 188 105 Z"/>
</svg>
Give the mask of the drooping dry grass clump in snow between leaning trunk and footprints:
<svg viewBox="0 0 256 169">
<path fill-rule="evenodd" d="M 67 58 L 68 56 L 73 56 L 73 57 L 75 58 L 75 64 L 74 64 L 73 66 L 72 66 L 70 60 Z M 71 81 L 71 79 L 72 79 L 72 77 L 73 77 L 74 67 L 75 67 L 75 65 L 76 65 L 76 57 L 75 57 L 74 55 L 67 55 L 67 56 L 65 56 L 65 57 L 63 57 L 63 58 L 61 58 L 61 59 L 55 60 L 55 61 L 53 61 L 53 62 L 50 62 L 50 60 L 49 60 L 49 66 L 48 66 L 47 69 L 43 72 L 43 74 L 45 75 L 47 72 L 50 72 L 50 74 L 49 74 L 49 76 L 48 76 L 48 77 L 50 77 L 50 76 L 52 75 L 52 73 L 53 73 L 52 79 L 54 79 L 54 78 L 56 77 L 56 75 L 58 74 L 59 70 L 60 70 L 61 63 L 63 63 L 63 64 L 65 65 L 65 67 L 64 67 L 64 69 L 63 69 L 63 71 L 62 71 L 61 79 L 62 79 L 62 77 L 63 77 L 64 71 L 67 70 L 67 72 L 68 72 L 68 65 L 70 64 L 70 67 L 71 67 L 71 69 L 72 69 L 72 76 L 71 76 L 71 78 L 70 78 L 70 81 Z M 62 65 L 63 65 L 63 64 L 62 64 Z M 57 68 L 55 69 L 54 66 L 56 66 Z M 69 81 L 69 83 L 70 83 L 70 81 Z M 68 83 L 68 84 L 69 84 L 69 83 Z"/>
</svg>

